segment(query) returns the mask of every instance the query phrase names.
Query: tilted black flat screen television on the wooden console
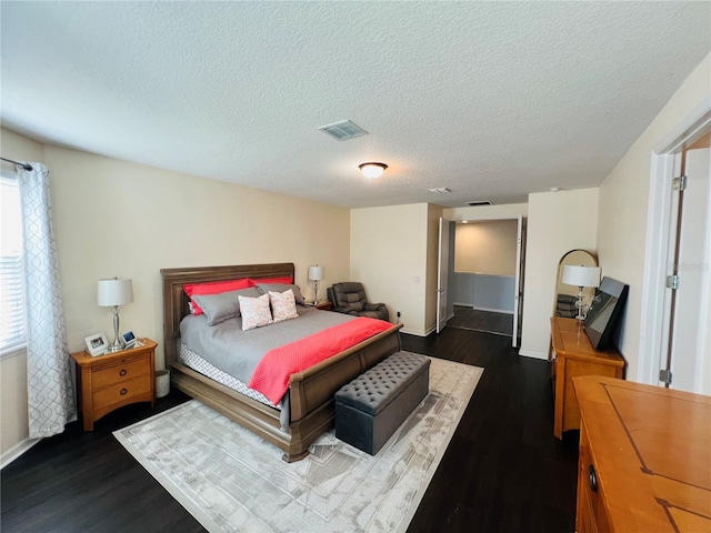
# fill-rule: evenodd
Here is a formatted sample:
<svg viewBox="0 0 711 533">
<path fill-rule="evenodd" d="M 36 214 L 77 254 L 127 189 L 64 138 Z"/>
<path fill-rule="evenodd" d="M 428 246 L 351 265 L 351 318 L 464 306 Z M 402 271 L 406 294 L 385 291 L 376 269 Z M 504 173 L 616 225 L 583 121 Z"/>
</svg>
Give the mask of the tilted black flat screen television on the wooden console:
<svg viewBox="0 0 711 533">
<path fill-rule="evenodd" d="M 583 322 L 585 333 L 595 350 L 604 350 L 612 336 L 627 302 L 629 285 L 604 276 L 592 299 L 592 305 Z"/>
</svg>

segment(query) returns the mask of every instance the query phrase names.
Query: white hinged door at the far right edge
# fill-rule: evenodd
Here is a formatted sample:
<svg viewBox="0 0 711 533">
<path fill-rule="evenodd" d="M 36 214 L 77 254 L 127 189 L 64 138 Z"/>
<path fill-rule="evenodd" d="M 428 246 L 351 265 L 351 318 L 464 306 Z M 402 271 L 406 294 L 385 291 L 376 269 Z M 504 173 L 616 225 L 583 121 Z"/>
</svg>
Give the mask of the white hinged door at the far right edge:
<svg viewBox="0 0 711 533">
<path fill-rule="evenodd" d="M 709 394 L 711 391 L 711 173 L 710 150 L 689 150 L 683 161 L 685 187 L 674 193 L 670 237 L 678 234 L 668 274 L 678 288 L 668 289 L 665 316 L 670 323 L 668 349 L 660 368 L 671 371 L 669 386 Z M 679 198 L 681 197 L 681 198 Z"/>
</svg>

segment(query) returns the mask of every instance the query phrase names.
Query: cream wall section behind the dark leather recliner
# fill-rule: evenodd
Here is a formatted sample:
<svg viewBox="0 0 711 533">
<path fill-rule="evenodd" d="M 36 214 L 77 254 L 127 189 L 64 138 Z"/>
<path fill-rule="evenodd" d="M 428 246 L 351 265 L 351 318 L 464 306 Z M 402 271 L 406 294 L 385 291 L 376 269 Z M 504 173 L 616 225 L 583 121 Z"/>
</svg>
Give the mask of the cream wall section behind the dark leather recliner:
<svg viewBox="0 0 711 533">
<path fill-rule="evenodd" d="M 351 281 L 372 302 L 384 302 L 391 322 L 402 311 L 404 332 L 425 332 L 428 284 L 427 203 L 351 211 Z M 339 280 L 343 281 L 343 280 Z"/>
</svg>

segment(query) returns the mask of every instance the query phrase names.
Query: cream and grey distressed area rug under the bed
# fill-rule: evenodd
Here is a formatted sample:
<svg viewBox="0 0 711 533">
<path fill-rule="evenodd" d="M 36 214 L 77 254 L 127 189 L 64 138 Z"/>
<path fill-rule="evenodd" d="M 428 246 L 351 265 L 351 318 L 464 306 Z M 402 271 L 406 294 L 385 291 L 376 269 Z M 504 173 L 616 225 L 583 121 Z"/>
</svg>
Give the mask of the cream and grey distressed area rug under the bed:
<svg viewBox="0 0 711 533">
<path fill-rule="evenodd" d="M 375 456 L 322 435 L 302 461 L 192 400 L 114 436 L 210 532 L 404 532 L 483 369 L 441 359 Z"/>
</svg>

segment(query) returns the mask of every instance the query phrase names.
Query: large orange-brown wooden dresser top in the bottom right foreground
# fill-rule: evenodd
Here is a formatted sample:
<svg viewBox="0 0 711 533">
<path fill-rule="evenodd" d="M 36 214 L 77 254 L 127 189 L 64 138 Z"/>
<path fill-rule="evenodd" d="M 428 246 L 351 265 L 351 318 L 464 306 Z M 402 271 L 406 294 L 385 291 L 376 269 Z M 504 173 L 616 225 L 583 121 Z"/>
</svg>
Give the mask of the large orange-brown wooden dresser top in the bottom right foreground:
<svg viewBox="0 0 711 533">
<path fill-rule="evenodd" d="M 711 531 L 711 396 L 594 375 L 573 385 L 578 533 Z"/>
</svg>

